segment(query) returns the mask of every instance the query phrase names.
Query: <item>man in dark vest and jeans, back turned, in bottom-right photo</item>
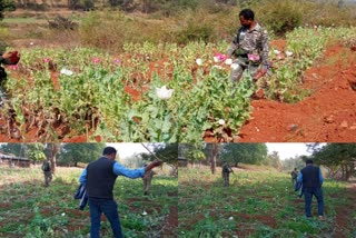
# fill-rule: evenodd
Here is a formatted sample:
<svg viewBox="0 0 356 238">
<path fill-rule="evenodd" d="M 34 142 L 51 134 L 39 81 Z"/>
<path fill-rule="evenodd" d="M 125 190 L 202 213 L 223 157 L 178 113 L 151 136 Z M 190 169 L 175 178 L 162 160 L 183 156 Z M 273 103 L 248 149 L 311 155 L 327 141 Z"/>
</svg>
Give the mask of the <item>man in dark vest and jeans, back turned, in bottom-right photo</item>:
<svg viewBox="0 0 356 238">
<path fill-rule="evenodd" d="M 298 182 L 303 182 L 303 191 L 305 197 L 305 216 L 312 217 L 313 196 L 318 201 L 318 216 L 324 220 L 324 199 L 323 199 L 323 175 L 319 167 L 313 165 L 312 159 L 306 160 L 306 167 L 298 175 Z"/>
</svg>

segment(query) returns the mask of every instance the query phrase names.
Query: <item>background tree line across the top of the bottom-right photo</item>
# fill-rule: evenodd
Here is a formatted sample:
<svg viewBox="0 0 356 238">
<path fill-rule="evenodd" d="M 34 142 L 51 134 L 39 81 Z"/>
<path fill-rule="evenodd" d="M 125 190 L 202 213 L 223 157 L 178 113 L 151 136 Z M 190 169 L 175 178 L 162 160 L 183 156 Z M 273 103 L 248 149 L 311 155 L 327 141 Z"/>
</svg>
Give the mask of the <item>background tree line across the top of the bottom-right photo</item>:
<svg viewBox="0 0 356 238">
<path fill-rule="evenodd" d="M 300 170 L 306 159 L 327 170 L 327 177 L 349 180 L 356 177 L 356 143 L 308 143 L 310 156 L 295 156 L 281 160 L 277 151 L 268 153 L 265 143 L 180 143 L 178 155 L 192 165 L 216 166 L 222 162 L 238 167 L 239 163 L 269 166 L 279 171 Z"/>
</svg>

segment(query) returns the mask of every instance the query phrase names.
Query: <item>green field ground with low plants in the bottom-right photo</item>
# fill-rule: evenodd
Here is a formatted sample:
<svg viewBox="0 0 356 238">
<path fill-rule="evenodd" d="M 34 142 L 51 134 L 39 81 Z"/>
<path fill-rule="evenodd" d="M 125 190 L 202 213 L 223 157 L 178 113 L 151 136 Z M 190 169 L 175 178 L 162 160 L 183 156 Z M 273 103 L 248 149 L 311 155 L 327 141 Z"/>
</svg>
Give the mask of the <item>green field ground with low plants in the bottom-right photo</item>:
<svg viewBox="0 0 356 238">
<path fill-rule="evenodd" d="M 257 167 L 254 167 L 257 169 Z M 326 221 L 304 217 L 304 199 L 294 192 L 290 176 L 278 171 L 235 169 L 230 187 L 222 187 L 220 170 L 179 170 L 179 236 L 181 237 L 324 237 L 335 234 L 336 209 L 346 184 L 326 180 Z M 352 214 L 349 216 L 353 216 Z M 352 230 L 353 227 L 344 228 Z"/>
</svg>

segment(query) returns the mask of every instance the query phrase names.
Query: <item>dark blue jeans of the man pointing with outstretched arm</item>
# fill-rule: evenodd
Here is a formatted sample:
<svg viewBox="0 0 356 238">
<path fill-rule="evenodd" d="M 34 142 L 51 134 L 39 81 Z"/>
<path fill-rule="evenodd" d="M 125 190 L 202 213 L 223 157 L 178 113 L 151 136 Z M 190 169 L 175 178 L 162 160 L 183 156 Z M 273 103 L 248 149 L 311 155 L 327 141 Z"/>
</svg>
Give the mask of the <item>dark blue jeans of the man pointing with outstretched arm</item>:
<svg viewBox="0 0 356 238">
<path fill-rule="evenodd" d="M 115 238 L 122 238 L 118 205 L 112 199 L 89 198 L 90 210 L 90 238 L 100 237 L 100 217 L 101 214 L 108 218 Z"/>
</svg>

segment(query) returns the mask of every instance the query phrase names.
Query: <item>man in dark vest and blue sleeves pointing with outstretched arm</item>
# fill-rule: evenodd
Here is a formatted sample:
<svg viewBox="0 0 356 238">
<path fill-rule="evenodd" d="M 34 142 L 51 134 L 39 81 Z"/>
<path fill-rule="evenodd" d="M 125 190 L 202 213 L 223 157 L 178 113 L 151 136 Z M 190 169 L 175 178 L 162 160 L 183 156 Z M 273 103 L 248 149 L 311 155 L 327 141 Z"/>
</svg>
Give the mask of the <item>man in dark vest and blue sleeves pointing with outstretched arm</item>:
<svg viewBox="0 0 356 238">
<path fill-rule="evenodd" d="M 113 185 L 118 176 L 125 176 L 131 179 L 141 178 L 145 172 L 154 167 L 160 166 L 161 160 L 156 160 L 146 168 L 128 169 L 115 161 L 117 150 L 113 147 L 106 147 L 102 157 L 90 162 L 82 171 L 79 182 L 87 188 L 89 210 L 90 210 L 90 237 L 100 237 L 100 217 L 101 214 L 108 218 L 115 238 L 122 238 L 118 205 L 113 200 Z"/>
</svg>

